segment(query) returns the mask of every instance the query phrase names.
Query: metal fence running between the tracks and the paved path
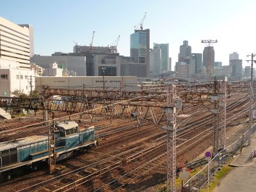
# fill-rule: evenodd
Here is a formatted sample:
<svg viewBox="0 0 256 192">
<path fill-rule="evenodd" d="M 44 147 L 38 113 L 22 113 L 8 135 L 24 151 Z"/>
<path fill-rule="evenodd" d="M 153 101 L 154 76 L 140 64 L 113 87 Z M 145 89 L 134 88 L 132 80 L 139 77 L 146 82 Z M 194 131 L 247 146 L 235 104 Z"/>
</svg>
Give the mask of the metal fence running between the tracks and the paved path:
<svg viewBox="0 0 256 192">
<path fill-rule="evenodd" d="M 256 131 L 256 124 L 251 128 L 252 134 Z M 200 172 L 196 173 L 191 179 L 189 179 L 185 184 L 184 188 L 179 191 L 199 191 L 205 184 L 207 184 L 208 179 L 208 166 L 209 166 L 209 178 L 214 175 L 214 173 L 220 169 L 221 164 L 227 162 L 229 159 L 232 159 L 239 150 L 241 150 L 248 141 L 248 131 L 244 132 L 237 141 L 229 145 L 228 147 L 221 150 L 214 158 L 207 163 Z"/>
</svg>

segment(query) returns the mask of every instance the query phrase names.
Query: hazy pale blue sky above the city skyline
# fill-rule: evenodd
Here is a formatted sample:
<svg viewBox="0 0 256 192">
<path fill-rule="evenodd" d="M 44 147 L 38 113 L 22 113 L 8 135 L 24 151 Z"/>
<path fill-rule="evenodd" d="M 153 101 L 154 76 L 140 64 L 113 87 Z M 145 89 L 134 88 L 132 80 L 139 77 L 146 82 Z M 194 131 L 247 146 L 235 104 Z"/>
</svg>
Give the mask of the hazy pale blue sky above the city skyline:
<svg viewBox="0 0 256 192">
<path fill-rule="evenodd" d="M 34 26 L 35 54 L 72 52 L 74 42 L 89 45 L 95 31 L 93 45 L 111 45 L 120 35 L 118 51 L 129 56 L 130 35 L 147 12 L 150 47 L 169 43 L 173 68 L 183 40 L 202 53 L 202 39 L 217 39 L 215 61 L 223 65 L 232 52 L 248 60 L 256 53 L 255 8 L 255 0 L 2 0 L 0 17 Z"/>
</svg>

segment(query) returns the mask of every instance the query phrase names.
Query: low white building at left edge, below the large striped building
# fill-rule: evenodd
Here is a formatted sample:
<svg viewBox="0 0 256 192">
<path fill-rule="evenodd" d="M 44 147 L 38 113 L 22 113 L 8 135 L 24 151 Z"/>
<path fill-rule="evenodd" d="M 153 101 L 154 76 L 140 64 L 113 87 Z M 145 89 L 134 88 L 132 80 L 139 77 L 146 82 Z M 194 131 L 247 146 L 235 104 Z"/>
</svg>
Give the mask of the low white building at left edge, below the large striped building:
<svg viewBox="0 0 256 192">
<path fill-rule="evenodd" d="M 0 95 L 13 97 L 12 92 L 20 90 L 29 94 L 35 89 L 35 72 L 32 69 L 21 68 L 15 61 L 0 59 Z"/>
</svg>

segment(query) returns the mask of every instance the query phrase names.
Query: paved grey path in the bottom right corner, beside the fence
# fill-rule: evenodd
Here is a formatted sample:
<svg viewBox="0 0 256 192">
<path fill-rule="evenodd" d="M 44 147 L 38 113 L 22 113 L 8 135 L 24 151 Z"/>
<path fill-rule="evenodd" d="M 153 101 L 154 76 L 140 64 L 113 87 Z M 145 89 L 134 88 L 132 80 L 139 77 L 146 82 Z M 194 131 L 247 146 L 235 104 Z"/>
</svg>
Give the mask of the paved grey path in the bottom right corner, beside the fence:
<svg viewBox="0 0 256 192">
<path fill-rule="evenodd" d="M 256 134 L 254 134 L 251 145 L 244 147 L 241 154 L 230 163 L 235 166 L 214 188 L 213 192 L 255 192 L 256 191 L 256 158 L 245 163 L 253 148 L 256 147 Z"/>
</svg>

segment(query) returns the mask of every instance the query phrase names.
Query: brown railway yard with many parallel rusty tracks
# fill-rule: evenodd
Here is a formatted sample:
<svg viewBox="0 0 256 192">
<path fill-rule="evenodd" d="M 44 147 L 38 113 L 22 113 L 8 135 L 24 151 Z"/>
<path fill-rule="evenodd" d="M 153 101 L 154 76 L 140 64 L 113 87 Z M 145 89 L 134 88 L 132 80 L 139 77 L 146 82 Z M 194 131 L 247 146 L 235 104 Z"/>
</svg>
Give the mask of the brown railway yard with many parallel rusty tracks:
<svg viewBox="0 0 256 192">
<path fill-rule="evenodd" d="M 221 84 L 177 86 L 176 95 L 182 100 L 182 108 L 177 108 L 175 114 L 177 172 L 182 162 L 185 165 L 192 162 L 212 145 L 216 129 L 217 140 L 221 140 L 223 120 L 227 143 L 236 140 L 229 134 L 248 129 L 250 100 L 247 85 L 227 83 L 225 114 L 220 110 L 218 115 L 211 109 L 217 109 L 219 100 L 213 99 L 212 102 L 211 96 L 223 94 Z M 45 119 L 43 110 L 46 109 L 41 108 L 47 106 L 47 109 L 54 111 L 55 122 L 72 121 L 85 129 L 94 126 L 97 146 L 84 148 L 74 153 L 73 157 L 56 163 L 56 171 L 52 174 L 49 174 L 47 161 L 33 164 L 33 171 L 15 170 L 10 173 L 10 180 L 0 184 L 0 191 L 156 191 L 157 185 L 166 182 L 167 136 L 161 128 L 168 124 L 168 113 L 163 112 L 163 106 L 168 101 L 166 87 L 159 86 L 158 90 L 157 86 L 148 87 L 129 95 L 129 98 L 122 91 L 95 93 L 81 90 L 86 94 L 76 92 L 76 97 L 86 97 L 85 101 L 73 100 L 68 104 L 61 101 L 57 106 L 52 99 L 45 99 L 44 105 L 36 102 L 41 104 L 36 110 L 35 102 L 31 104 L 29 100 L 30 108 L 36 113 L 1 120 L 0 142 L 15 142 L 28 136 L 48 134 L 47 122 L 51 122 L 51 118 Z M 71 92 L 48 91 L 46 95 L 68 95 Z M 25 101 L 22 102 L 22 106 L 27 106 Z M 51 106 L 48 105 L 50 102 Z M 11 103 L 14 101 L 3 99 L 0 102 L 2 108 Z"/>
</svg>

